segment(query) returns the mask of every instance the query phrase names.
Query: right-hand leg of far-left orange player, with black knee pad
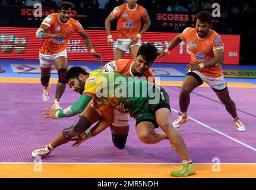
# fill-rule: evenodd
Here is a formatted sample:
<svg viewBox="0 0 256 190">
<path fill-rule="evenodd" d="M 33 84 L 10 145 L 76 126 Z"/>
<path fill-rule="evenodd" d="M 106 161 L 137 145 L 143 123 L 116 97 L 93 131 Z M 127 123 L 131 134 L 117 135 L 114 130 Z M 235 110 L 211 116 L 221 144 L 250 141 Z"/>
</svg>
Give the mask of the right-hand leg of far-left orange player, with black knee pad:
<svg viewBox="0 0 256 190">
<path fill-rule="evenodd" d="M 61 53 L 59 54 L 61 55 Z M 55 101 L 53 102 L 53 108 L 61 109 L 59 106 L 59 100 L 66 88 L 66 74 L 68 69 L 67 56 L 61 55 L 54 59 L 55 68 L 58 71 L 58 83 L 56 86 Z"/>
</svg>

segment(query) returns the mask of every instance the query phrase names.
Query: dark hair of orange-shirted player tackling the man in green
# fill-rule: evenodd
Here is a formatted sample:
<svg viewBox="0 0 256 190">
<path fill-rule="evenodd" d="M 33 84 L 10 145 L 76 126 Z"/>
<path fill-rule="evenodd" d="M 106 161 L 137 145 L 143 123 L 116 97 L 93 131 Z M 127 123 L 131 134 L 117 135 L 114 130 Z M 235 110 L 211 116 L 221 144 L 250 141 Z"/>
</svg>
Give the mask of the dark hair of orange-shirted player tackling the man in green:
<svg viewBox="0 0 256 190">
<path fill-rule="evenodd" d="M 137 56 L 143 56 L 143 59 L 147 62 L 154 62 L 157 57 L 157 48 L 150 42 L 144 43 L 138 49 Z"/>
</svg>

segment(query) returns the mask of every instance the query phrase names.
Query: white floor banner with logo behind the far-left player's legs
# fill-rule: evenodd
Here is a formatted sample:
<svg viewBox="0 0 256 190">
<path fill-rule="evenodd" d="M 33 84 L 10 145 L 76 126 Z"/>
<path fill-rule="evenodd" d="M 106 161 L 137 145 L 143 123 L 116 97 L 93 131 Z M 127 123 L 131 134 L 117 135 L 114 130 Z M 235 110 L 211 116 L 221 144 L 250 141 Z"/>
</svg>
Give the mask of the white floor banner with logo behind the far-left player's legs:
<svg viewBox="0 0 256 190">
<path fill-rule="evenodd" d="M 40 73 L 40 65 L 26 65 L 26 64 L 10 64 L 12 72 L 18 72 L 18 73 Z M 69 65 L 68 68 L 71 68 L 72 66 L 81 66 L 86 72 L 91 72 L 91 69 L 89 69 L 88 66 L 82 66 L 82 65 Z M 52 73 L 58 74 L 57 69 L 55 66 L 52 66 Z"/>
</svg>

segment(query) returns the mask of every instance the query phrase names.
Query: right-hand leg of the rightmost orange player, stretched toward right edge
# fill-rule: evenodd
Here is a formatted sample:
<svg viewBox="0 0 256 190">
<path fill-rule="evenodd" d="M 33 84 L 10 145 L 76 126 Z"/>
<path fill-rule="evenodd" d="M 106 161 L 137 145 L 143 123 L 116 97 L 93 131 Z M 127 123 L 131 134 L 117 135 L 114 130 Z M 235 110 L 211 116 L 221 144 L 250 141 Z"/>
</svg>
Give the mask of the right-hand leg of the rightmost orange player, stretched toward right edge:
<svg viewBox="0 0 256 190">
<path fill-rule="evenodd" d="M 236 105 L 235 102 L 233 102 L 233 100 L 229 96 L 228 88 L 226 87 L 223 90 L 214 90 L 214 92 L 217 94 L 217 97 L 219 98 L 220 102 L 222 102 L 223 105 L 225 105 L 227 112 L 229 112 L 229 114 L 232 116 L 233 124 L 235 125 L 236 129 L 238 131 L 245 131 L 246 128 L 238 118 L 238 113 L 236 112 Z"/>
</svg>

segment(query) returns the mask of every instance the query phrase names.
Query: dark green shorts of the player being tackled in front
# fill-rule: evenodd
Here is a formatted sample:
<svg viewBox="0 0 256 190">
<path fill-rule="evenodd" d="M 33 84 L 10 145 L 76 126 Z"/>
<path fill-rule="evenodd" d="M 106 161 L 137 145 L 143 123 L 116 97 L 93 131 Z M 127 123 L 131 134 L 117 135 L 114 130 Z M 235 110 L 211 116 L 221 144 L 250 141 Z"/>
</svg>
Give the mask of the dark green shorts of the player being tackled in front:
<svg viewBox="0 0 256 190">
<path fill-rule="evenodd" d="M 149 121 L 154 124 L 154 128 L 158 128 L 158 124 L 156 122 L 155 113 L 156 110 L 166 107 L 170 110 L 169 105 L 169 95 L 166 93 L 165 89 L 160 88 L 160 98 L 159 102 L 156 104 L 150 104 L 149 99 L 147 100 L 143 109 L 141 109 L 135 116 L 136 119 L 136 126 L 143 121 Z"/>
</svg>

